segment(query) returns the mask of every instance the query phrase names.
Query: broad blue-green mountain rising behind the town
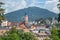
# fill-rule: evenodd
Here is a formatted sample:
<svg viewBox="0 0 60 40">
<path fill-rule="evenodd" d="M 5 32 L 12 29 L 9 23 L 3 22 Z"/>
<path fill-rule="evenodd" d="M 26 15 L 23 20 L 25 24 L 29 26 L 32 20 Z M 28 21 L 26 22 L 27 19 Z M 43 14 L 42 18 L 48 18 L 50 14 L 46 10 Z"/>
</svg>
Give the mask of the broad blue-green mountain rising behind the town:
<svg viewBox="0 0 60 40">
<path fill-rule="evenodd" d="M 24 19 L 25 13 L 27 13 L 29 21 L 34 21 L 39 18 L 57 17 L 57 14 L 38 7 L 28 7 L 20 9 L 11 13 L 7 13 L 5 16 L 8 21 L 19 22 Z"/>
</svg>

